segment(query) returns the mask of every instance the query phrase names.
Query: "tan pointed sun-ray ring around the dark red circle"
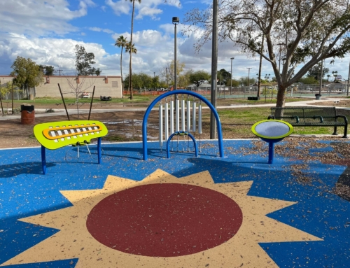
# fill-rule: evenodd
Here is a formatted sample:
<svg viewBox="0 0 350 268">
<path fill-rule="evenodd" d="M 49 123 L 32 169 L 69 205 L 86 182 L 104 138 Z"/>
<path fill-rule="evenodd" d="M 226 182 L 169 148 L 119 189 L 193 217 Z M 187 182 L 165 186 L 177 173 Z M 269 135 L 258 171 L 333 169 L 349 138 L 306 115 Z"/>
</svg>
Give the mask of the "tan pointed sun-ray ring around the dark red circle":
<svg viewBox="0 0 350 268">
<path fill-rule="evenodd" d="M 116 251 L 100 244 L 87 231 L 86 220 L 91 209 L 102 199 L 128 188 L 153 183 L 181 183 L 209 188 L 227 195 L 241 208 L 243 222 L 237 234 L 225 243 L 192 255 L 172 258 L 146 257 Z M 247 196 L 252 181 L 215 184 L 208 171 L 176 178 L 158 169 L 143 181 L 108 176 L 98 190 L 61 191 L 73 206 L 21 219 L 59 230 L 55 235 L 3 263 L 15 265 L 78 258 L 79 267 L 276 267 L 258 245 L 260 242 L 321 241 L 297 230 L 268 213 L 295 204 L 276 199 Z"/>
</svg>

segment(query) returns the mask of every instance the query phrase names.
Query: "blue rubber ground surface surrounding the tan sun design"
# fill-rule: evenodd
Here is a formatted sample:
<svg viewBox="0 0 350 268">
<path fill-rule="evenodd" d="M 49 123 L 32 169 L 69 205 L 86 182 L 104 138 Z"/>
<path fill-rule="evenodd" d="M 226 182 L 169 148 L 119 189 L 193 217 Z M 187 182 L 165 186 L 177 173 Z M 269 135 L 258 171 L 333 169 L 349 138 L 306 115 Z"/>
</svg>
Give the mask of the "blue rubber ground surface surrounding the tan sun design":
<svg viewBox="0 0 350 268">
<path fill-rule="evenodd" d="M 265 222 L 265 225 L 261 223 L 266 228 L 267 234 L 274 233 L 274 239 L 261 238 L 262 240 L 257 242 L 249 242 L 252 248 L 258 248 L 259 252 L 261 251 L 269 260 L 267 265 L 261 267 L 349 267 L 350 202 L 333 193 L 335 183 L 344 176 L 346 166 L 303 162 L 297 158 L 282 157 L 277 153 L 274 155 L 273 164 L 267 164 L 267 144 L 264 144 L 260 152 L 245 153 L 254 147 L 254 142 L 254 140 L 224 140 L 225 158 L 221 158 L 218 157 L 217 141 L 202 141 L 200 157 L 195 157 L 194 153 L 190 152 L 175 152 L 171 153 L 169 159 L 164 148 L 160 150 L 158 143 L 150 142 L 146 161 L 142 160 L 142 143 L 102 144 L 102 164 L 97 164 L 97 146 L 90 146 L 91 155 L 86 148 L 80 148 L 79 158 L 77 148 L 69 146 L 58 150 L 47 150 L 46 175 L 42 174 L 39 147 L 0 150 L 0 266 L 90 267 L 89 261 L 85 259 L 84 262 L 81 255 L 78 257 L 66 253 L 69 250 L 64 253 L 60 251 L 58 244 L 68 243 L 64 241 L 52 243 L 55 258 L 47 257 L 45 248 L 50 246 L 41 244 L 56 237 L 61 228 L 48 227 L 50 223 L 45 223 L 44 226 L 21 219 L 45 215 L 52 211 L 64 211 L 74 206 L 74 202 L 60 191 L 81 192 L 102 189 L 108 176 L 143 181 L 155 171 L 161 170 L 176 178 L 208 171 L 212 183 L 216 186 L 250 181 L 251 187 L 246 194 L 248 197 L 261 197 L 266 204 L 269 200 L 290 202 L 290 205 L 282 209 L 267 213 L 266 217 L 274 220 L 276 225 L 271 225 L 270 222 Z M 330 143 L 330 141 L 319 142 L 326 145 Z M 283 143 L 288 143 L 288 139 L 281 142 Z M 318 150 L 325 152 L 332 151 L 333 148 L 330 145 L 315 148 L 313 153 L 318 153 Z M 304 164 L 300 171 L 310 178 L 309 183 L 297 181 L 295 171 L 290 168 L 295 164 Z M 230 198 L 235 199 L 235 195 Z M 245 216 L 250 211 L 242 209 L 242 213 Z M 260 223 L 260 220 L 257 220 Z M 66 224 L 69 224 L 68 219 Z M 243 220 L 242 230 L 246 224 L 247 220 Z M 309 239 L 293 241 L 290 237 L 279 234 L 279 226 L 283 226 L 284 230 L 290 228 L 289 233 L 295 232 L 299 237 L 300 234 L 305 234 Z M 74 229 L 72 232 L 79 230 Z M 249 240 L 253 234 L 239 233 L 239 235 L 241 239 L 246 236 Z M 264 237 L 265 234 L 257 235 Z M 225 244 L 221 246 L 225 248 Z M 237 248 L 240 246 L 236 245 Z M 78 248 L 77 251 L 87 250 L 86 247 L 85 250 L 82 248 L 84 247 Z M 230 251 L 234 250 L 232 246 L 225 248 L 224 257 L 228 258 L 232 255 Z M 95 251 L 99 251 L 99 248 L 94 249 Z M 203 251 L 203 255 L 204 253 L 206 251 Z M 87 256 L 90 254 L 93 253 L 87 252 Z M 251 255 L 253 256 L 253 253 Z M 222 267 L 239 267 L 241 263 L 244 263 L 243 267 L 255 267 L 249 258 L 262 258 L 262 255 L 244 256 L 244 262 L 226 263 Z M 33 258 L 36 263 L 33 263 Z M 215 259 L 215 254 L 211 259 Z M 218 267 L 210 265 L 209 261 L 202 264 L 188 267 Z M 139 265 L 142 266 L 142 263 Z M 104 263 L 94 267 L 134 266 Z M 146 267 L 152 266 L 146 265 Z"/>
</svg>

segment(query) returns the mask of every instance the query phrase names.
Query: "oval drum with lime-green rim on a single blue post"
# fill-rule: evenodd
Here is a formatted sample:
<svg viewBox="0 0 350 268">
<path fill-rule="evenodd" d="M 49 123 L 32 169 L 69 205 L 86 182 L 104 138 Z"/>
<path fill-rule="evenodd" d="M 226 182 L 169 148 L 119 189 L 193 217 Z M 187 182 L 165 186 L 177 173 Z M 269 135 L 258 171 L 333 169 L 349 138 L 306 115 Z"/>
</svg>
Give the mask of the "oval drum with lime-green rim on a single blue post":
<svg viewBox="0 0 350 268">
<path fill-rule="evenodd" d="M 274 143 L 282 141 L 293 133 L 293 127 L 281 120 L 263 120 L 251 127 L 253 134 L 269 143 L 269 164 L 274 162 Z"/>
</svg>

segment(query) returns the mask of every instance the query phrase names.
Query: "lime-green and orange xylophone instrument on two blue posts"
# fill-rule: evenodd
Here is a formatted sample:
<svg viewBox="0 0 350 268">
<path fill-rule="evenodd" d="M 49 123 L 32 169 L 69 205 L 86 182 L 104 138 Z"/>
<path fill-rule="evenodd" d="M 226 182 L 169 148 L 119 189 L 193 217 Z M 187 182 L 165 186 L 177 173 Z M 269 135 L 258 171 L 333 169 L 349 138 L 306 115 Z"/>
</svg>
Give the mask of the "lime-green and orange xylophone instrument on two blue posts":
<svg viewBox="0 0 350 268">
<path fill-rule="evenodd" d="M 59 121 L 38 124 L 34 126 L 34 136 L 41 144 L 41 164 L 43 174 L 46 174 L 46 153 L 45 149 L 56 150 L 64 146 L 87 146 L 91 139 L 97 139 L 97 157 L 98 163 L 101 163 L 101 137 L 106 136 L 108 129 L 99 121 L 95 120 L 75 120 Z M 91 154 L 91 153 L 90 153 Z"/>
</svg>

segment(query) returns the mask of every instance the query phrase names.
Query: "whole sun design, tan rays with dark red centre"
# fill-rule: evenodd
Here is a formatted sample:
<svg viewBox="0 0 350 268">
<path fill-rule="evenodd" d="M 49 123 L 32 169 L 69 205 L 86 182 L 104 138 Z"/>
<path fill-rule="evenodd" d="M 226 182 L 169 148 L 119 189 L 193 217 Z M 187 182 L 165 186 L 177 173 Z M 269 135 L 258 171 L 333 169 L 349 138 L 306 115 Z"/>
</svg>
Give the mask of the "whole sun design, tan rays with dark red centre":
<svg viewBox="0 0 350 268">
<path fill-rule="evenodd" d="M 157 169 L 143 181 L 108 176 L 100 190 L 60 191 L 73 206 L 20 219 L 59 232 L 1 266 L 277 267 L 260 243 L 322 241 L 269 218 L 295 202 L 247 195 L 252 183 Z"/>
</svg>

